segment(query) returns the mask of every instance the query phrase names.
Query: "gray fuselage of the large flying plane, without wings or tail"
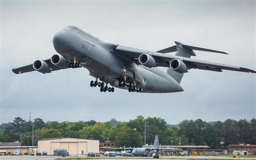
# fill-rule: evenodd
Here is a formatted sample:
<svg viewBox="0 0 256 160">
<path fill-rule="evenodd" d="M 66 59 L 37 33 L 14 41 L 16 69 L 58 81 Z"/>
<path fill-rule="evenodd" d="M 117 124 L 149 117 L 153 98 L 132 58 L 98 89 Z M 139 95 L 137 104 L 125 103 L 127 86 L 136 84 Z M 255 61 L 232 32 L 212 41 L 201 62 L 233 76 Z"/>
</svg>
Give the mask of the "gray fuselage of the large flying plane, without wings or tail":
<svg viewBox="0 0 256 160">
<path fill-rule="evenodd" d="M 117 45 L 104 42 L 91 34 L 72 26 L 57 32 L 53 37 L 55 50 L 66 59 L 79 61 L 90 75 L 100 81 L 118 86 L 118 78 L 131 75 L 143 88 L 143 92 L 167 93 L 183 91 L 180 84 L 158 67 L 148 68 L 127 60 L 114 50 Z M 125 68 L 125 69 L 124 69 Z"/>
</svg>

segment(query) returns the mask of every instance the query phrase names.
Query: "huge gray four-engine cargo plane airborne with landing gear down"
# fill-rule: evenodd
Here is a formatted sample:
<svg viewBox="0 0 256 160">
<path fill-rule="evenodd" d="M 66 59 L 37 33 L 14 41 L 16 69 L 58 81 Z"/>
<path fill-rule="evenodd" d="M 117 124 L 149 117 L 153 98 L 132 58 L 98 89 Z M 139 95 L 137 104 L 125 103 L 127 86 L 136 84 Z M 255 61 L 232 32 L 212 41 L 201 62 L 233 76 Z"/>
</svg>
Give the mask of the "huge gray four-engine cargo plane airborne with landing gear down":
<svg viewBox="0 0 256 160">
<path fill-rule="evenodd" d="M 90 85 L 99 86 L 101 92 L 114 92 L 114 88 L 108 85 L 110 84 L 129 92 L 146 93 L 183 91 L 180 81 L 189 69 L 255 73 L 254 70 L 243 67 L 190 59 L 191 56 L 196 56 L 193 50 L 227 53 L 188 46 L 177 41 L 175 43 L 175 46 L 151 52 L 107 43 L 76 26 L 68 26 L 53 37 L 53 46 L 59 54 L 12 71 L 15 74 L 30 71 L 45 74 L 60 69 L 84 67 L 96 78 Z M 171 52 L 176 54 L 165 54 Z M 167 71 L 162 71 L 159 67 L 167 67 Z"/>
</svg>

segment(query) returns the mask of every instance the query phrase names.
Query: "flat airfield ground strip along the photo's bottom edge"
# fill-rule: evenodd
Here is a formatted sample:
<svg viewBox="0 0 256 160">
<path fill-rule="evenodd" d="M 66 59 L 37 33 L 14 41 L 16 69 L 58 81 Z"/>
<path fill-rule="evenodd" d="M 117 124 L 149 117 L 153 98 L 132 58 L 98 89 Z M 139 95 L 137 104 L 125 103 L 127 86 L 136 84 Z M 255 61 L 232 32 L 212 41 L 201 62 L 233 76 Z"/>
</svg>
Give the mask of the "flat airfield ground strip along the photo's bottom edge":
<svg viewBox="0 0 256 160">
<path fill-rule="evenodd" d="M 87 157 L 87 156 L 0 156 L 0 159 L 153 159 L 153 157 L 125 157 L 125 156 L 116 156 L 116 157 Z M 240 157 L 240 158 L 233 158 L 233 157 L 225 157 L 225 156 L 160 156 L 159 159 L 256 159 L 255 157 Z"/>
</svg>

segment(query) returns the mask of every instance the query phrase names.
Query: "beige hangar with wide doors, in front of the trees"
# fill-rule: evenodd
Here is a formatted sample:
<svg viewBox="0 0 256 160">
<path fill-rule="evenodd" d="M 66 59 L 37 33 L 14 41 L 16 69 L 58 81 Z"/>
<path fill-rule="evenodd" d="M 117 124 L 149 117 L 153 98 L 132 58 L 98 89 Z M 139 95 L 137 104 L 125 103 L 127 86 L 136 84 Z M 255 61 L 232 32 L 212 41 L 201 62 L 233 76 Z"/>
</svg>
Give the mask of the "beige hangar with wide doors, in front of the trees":
<svg viewBox="0 0 256 160">
<path fill-rule="evenodd" d="M 48 155 L 55 155 L 56 151 L 66 150 L 69 155 L 87 155 L 88 152 L 99 152 L 98 140 L 54 138 L 38 141 L 38 151 L 46 151 Z"/>
</svg>

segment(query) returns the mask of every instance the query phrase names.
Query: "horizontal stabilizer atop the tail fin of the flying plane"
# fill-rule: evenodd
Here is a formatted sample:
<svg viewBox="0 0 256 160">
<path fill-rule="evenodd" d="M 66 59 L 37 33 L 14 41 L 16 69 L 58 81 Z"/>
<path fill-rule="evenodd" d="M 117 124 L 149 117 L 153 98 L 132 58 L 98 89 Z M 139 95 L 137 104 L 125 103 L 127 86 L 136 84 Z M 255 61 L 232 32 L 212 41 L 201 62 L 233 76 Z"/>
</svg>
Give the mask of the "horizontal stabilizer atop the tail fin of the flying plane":
<svg viewBox="0 0 256 160">
<path fill-rule="evenodd" d="M 194 47 L 194 46 L 188 46 L 188 45 L 184 45 L 183 43 L 180 43 L 178 41 L 175 41 L 176 46 L 172 46 L 169 48 L 165 48 L 162 50 L 158 50 L 158 53 L 171 53 L 171 52 L 177 52 L 177 47 L 182 46 L 185 49 L 188 50 L 200 50 L 200 51 L 205 51 L 205 52 L 214 52 L 214 53 L 221 53 L 221 54 L 227 54 L 225 52 L 221 52 L 219 50 L 212 50 L 212 49 L 206 49 L 206 48 L 200 48 L 200 47 Z"/>
</svg>

